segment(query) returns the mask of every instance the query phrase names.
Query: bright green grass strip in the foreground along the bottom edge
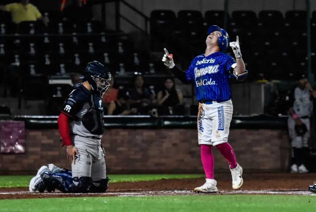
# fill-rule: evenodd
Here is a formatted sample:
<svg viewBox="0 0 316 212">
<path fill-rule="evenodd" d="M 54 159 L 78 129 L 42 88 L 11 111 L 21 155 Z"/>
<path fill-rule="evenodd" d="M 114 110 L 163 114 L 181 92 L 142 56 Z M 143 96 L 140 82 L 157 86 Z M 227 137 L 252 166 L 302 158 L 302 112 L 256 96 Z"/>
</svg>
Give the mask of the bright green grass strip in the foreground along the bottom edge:
<svg viewBox="0 0 316 212">
<path fill-rule="evenodd" d="M 198 195 L 0 200 L 1 211 L 313 211 L 316 196 Z"/>
</svg>

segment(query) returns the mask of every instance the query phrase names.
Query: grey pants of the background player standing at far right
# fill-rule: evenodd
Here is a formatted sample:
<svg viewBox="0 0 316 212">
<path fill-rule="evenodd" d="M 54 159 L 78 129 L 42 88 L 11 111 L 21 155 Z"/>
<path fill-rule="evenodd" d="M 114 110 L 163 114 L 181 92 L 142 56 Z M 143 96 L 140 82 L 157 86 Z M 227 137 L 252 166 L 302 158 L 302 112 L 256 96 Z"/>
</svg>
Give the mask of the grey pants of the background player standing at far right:
<svg viewBox="0 0 316 212">
<path fill-rule="evenodd" d="M 301 121 L 306 125 L 307 132 L 302 136 L 298 136 L 295 132 L 294 118 L 290 116 L 288 119 L 289 135 L 292 140 L 291 145 L 293 148 L 308 147 L 308 139 L 311 135 L 310 121 L 309 121 L 309 118 L 301 119 Z"/>
</svg>

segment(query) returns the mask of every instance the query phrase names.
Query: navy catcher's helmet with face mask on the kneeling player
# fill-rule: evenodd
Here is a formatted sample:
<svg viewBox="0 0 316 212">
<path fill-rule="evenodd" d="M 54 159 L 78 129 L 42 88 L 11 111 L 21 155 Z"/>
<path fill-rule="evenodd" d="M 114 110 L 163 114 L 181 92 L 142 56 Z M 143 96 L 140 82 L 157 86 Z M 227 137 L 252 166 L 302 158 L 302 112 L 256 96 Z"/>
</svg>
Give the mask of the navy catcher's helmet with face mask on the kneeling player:
<svg viewBox="0 0 316 212">
<path fill-rule="evenodd" d="M 111 80 L 111 72 L 100 62 L 93 61 L 88 63 L 86 73 L 82 78 L 88 81 L 92 92 L 102 98 L 103 94 L 110 87 L 108 81 Z"/>
</svg>

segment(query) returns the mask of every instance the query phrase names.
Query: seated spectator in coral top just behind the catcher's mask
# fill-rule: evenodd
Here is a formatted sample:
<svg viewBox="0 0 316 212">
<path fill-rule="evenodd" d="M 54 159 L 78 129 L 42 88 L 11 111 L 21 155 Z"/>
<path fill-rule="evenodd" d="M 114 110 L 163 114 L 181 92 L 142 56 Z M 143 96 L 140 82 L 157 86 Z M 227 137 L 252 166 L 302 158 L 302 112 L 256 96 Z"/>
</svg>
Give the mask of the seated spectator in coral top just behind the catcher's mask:
<svg viewBox="0 0 316 212">
<path fill-rule="evenodd" d="M 125 110 L 125 98 L 122 95 L 122 91 L 115 87 L 115 78 L 112 75 L 109 81 L 110 87 L 103 95 L 103 106 L 107 109 L 107 115 L 129 115 L 135 114 L 136 110 L 126 109 Z"/>
</svg>

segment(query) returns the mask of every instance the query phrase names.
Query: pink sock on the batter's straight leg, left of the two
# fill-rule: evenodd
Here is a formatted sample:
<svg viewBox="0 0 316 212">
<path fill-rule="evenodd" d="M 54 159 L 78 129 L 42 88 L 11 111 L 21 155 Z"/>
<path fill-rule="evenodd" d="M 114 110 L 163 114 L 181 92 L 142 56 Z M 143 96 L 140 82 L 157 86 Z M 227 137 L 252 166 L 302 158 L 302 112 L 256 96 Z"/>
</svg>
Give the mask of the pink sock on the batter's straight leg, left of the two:
<svg viewBox="0 0 316 212">
<path fill-rule="evenodd" d="M 201 160 L 206 178 L 214 179 L 214 157 L 212 146 L 201 145 Z"/>
</svg>

